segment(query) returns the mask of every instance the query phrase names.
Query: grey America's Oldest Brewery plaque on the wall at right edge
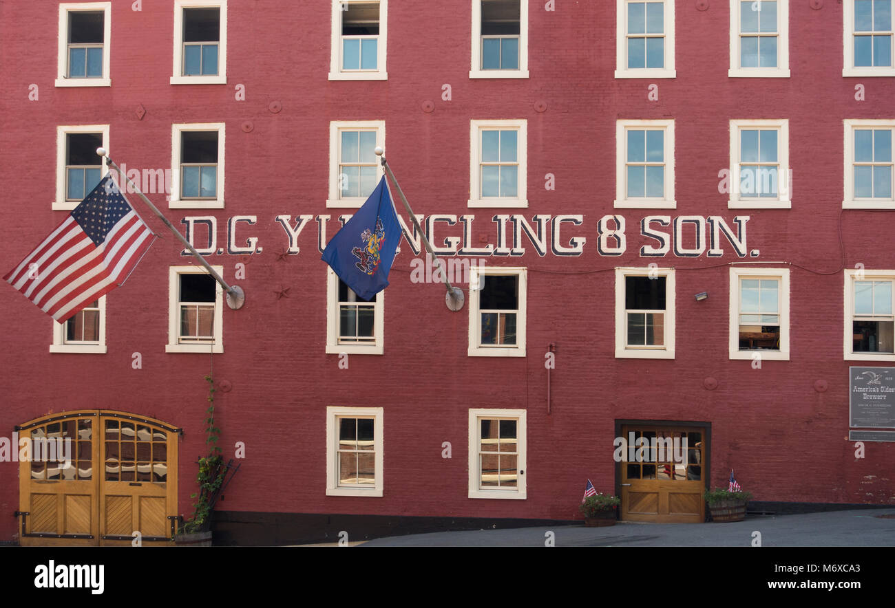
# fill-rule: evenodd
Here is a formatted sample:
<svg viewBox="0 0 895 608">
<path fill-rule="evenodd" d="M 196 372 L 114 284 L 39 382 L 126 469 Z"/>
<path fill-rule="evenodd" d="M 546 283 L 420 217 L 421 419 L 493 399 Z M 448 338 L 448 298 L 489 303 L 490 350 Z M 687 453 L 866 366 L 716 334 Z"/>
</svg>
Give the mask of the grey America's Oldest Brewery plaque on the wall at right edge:
<svg viewBox="0 0 895 608">
<path fill-rule="evenodd" d="M 895 428 L 895 367 L 848 367 L 848 425 Z"/>
</svg>

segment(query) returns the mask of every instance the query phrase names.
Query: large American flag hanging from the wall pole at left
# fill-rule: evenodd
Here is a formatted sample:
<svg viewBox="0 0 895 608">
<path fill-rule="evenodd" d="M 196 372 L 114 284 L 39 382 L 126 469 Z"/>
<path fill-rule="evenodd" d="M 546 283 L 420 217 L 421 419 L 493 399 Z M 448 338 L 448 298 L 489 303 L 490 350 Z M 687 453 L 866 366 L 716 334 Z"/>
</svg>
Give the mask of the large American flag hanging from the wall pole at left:
<svg viewBox="0 0 895 608">
<path fill-rule="evenodd" d="M 61 323 L 124 284 L 155 238 L 109 174 L 4 280 Z"/>
</svg>

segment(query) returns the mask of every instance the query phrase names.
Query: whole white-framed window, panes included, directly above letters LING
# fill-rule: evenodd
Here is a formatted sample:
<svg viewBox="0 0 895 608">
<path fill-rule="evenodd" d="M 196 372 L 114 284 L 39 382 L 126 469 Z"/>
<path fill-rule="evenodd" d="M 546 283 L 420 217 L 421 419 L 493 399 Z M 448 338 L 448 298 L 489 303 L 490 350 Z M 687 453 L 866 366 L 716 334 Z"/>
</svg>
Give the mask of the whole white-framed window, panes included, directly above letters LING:
<svg viewBox="0 0 895 608">
<path fill-rule="evenodd" d="M 469 207 L 528 207 L 527 121 L 470 122 Z"/>
</svg>

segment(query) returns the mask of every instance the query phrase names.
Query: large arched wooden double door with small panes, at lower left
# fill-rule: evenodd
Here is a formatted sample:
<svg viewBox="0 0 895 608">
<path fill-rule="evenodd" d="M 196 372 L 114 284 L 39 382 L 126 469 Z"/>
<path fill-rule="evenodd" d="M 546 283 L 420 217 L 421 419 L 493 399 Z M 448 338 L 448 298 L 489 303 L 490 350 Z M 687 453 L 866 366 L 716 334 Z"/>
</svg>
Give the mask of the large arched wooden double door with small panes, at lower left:
<svg viewBox="0 0 895 608">
<path fill-rule="evenodd" d="M 143 545 L 173 543 L 179 429 L 79 410 L 15 430 L 27 459 L 19 469 L 21 545 L 131 545 L 134 532 Z"/>
</svg>

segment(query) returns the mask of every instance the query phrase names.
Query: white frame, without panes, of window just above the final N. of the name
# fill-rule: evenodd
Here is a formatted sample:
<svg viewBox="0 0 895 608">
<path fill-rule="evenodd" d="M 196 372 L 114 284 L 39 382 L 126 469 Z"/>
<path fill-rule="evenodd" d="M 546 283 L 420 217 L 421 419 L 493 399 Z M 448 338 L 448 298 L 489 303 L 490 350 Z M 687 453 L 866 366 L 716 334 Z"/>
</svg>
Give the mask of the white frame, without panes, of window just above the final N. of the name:
<svg viewBox="0 0 895 608">
<path fill-rule="evenodd" d="M 777 198 L 744 197 L 740 187 L 740 131 L 777 130 Z M 729 209 L 790 209 L 792 184 L 789 178 L 789 121 L 732 120 L 730 121 L 730 198 Z"/>
</svg>

